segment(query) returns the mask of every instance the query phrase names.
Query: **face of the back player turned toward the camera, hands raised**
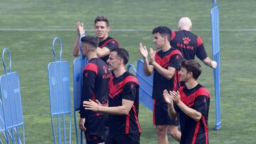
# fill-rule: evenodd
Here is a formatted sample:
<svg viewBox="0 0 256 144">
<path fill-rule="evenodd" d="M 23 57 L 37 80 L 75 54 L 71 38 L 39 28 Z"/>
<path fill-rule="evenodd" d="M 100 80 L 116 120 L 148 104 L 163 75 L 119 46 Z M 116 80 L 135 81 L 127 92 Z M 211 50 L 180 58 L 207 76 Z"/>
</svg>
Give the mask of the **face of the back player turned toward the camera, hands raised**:
<svg viewBox="0 0 256 144">
<path fill-rule="evenodd" d="M 95 23 L 95 34 L 97 38 L 105 39 L 107 38 L 107 33 L 110 31 L 110 27 L 107 27 L 105 21 L 98 21 Z"/>
</svg>

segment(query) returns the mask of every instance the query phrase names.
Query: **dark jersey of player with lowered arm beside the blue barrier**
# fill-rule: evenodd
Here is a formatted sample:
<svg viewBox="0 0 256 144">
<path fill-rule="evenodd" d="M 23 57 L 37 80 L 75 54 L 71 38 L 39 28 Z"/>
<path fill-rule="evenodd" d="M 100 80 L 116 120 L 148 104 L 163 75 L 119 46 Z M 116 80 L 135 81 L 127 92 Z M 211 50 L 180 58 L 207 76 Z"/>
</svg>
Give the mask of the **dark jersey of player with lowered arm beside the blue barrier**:
<svg viewBox="0 0 256 144">
<path fill-rule="evenodd" d="M 85 110 L 82 106 L 82 101 L 97 99 L 101 104 L 107 104 L 108 87 L 105 87 L 110 82 L 112 74 L 107 69 L 107 64 L 100 58 L 93 58 L 88 62 L 82 72 L 82 97 L 80 102 L 80 117 L 98 116 L 99 113 Z"/>
</svg>

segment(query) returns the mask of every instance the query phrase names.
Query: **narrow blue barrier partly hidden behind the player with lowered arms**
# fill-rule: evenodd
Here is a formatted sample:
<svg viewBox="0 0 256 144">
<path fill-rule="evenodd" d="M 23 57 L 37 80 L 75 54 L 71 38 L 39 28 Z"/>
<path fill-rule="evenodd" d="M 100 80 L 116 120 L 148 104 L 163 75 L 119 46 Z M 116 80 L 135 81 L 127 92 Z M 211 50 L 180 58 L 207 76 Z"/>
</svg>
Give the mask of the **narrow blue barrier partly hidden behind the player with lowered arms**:
<svg viewBox="0 0 256 144">
<path fill-rule="evenodd" d="M 82 35 L 80 37 L 83 37 Z M 75 122 L 75 137 L 76 137 L 76 142 L 78 144 L 78 127 L 77 127 L 77 121 L 76 121 L 76 112 L 80 111 L 80 101 L 81 101 L 81 96 L 82 96 L 82 70 L 84 69 L 85 65 L 87 65 L 88 61 L 85 57 L 82 57 L 82 48 L 81 48 L 81 43 L 79 45 L 80 49 L 80 57 L 75 58 L 73 61 L 73 92 L 74 92 L 74 122 Z M 82 143 L 82 131 L 80 131 L 80 143 Z"/>
</svg>

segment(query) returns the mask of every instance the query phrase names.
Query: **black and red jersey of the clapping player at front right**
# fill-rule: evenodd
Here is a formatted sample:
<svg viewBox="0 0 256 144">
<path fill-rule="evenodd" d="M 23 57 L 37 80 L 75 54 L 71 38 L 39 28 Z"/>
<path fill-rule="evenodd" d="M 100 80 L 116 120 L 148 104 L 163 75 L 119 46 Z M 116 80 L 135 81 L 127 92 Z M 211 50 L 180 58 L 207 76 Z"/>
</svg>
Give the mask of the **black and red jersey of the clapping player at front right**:
<svg viewBox="0 0 256 144">
<path fill-rule="evenodd" d="M 195 121 L 181 111 L 174 104 L 179 114 L 181 124 L 181 143 L 206 143 L 208 144 L 208 113 L 210 106 L 210 94 L 201 84 L 193 89 L 181 87 L 178 89 L 181 94 L 181 101 L 191 109 L 202 113 L 200 121 Z"/>
</svg>

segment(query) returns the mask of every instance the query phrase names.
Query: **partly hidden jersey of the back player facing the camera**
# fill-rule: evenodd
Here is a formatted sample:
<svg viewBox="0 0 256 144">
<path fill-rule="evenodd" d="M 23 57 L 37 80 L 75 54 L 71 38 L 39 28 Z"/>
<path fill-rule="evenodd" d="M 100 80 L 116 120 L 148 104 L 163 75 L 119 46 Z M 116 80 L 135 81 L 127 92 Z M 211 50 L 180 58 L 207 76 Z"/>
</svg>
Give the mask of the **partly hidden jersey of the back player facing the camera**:
<svg viewBox="0 0 256 144">
<path fill-rule="evenodd" d="M 110 51 L 113 50 L 114 48 L 119 48 L 119 42 L 117 40 L 114 40 L 114 38 L 111 38 L 110 36 L 107 37 L 105 40 L 99 43 L 100 48 L 108 48 Z M 101 57 L 101 59 L 104 62 L 107 62 L 109 55 L 106 55 L 105 57 Z"/>
</svg>

